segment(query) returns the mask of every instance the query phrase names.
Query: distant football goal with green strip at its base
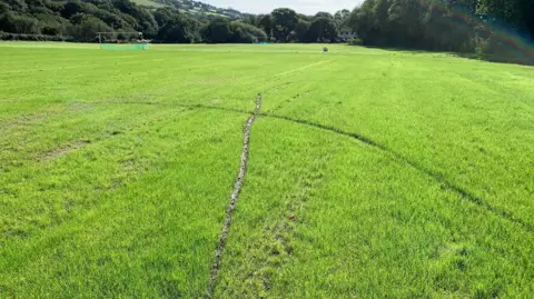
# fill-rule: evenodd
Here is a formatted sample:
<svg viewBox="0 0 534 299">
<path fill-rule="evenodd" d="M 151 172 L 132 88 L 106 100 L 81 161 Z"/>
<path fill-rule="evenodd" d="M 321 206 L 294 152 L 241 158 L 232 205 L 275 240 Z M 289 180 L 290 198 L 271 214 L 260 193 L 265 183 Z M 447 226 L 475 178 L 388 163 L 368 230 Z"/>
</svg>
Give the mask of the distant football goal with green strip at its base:
<svg viewBox="0 0 534 299">
<path fill-rule="evenodd" d="M 97 32 L 102 50 L 148 50 L 142 32 Z"/>
</svg>

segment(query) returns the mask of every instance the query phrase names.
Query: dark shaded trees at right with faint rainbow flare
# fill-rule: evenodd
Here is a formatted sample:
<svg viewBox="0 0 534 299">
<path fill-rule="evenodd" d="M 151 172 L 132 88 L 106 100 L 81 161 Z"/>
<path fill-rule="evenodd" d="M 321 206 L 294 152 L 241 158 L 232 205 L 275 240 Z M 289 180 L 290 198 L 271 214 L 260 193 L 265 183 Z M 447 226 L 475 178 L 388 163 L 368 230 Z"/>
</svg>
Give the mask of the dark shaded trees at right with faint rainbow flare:
<svg viewBox="0 0 534 299">
<path fill-rule="evenodd" d="M 349 23 L 366 46 L 534 59 L 533 0 L 366 0 Z"/>
</svg>

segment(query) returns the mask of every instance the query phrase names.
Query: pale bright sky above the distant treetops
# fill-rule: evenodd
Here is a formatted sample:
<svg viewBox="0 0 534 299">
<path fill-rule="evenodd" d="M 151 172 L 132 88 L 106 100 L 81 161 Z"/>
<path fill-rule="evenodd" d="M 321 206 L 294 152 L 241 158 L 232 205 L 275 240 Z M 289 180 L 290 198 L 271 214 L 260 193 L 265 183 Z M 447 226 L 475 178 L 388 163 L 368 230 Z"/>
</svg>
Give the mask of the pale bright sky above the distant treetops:
<svg viewBox="0 0 534 299">
<path fill-rule="evenodd" d="M 219 8 L 233 8 L 240 12 L 267 13 L 276 8 L 290 8 L 298 13 L 315 14 L 318 11 L 334 13 L 342 9 L 353 10 L 363 0 L 204 0 Z"/>
</svg>

